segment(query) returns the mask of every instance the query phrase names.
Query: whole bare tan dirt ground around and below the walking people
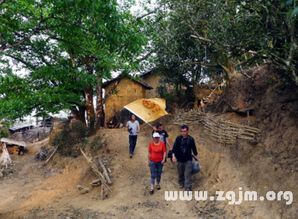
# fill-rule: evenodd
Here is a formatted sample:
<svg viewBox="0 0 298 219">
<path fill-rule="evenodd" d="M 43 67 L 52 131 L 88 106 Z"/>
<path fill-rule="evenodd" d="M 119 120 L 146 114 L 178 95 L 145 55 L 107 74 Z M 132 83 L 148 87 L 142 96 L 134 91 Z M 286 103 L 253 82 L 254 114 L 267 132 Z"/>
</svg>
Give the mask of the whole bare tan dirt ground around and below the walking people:
<svg viewBox="0 0 298 219">
<path fill-rule="evenodd" d="M 170 135 L 177 130 L 170 128 Z M 176 166 L 164 166 L 160 191 L 149 190 L 147 145 L 150 130 L 141 131 L 133 159 L 128 156 L 128 136 L 125 129 L 103 129 L 112 163 L 112 194 L 100 200 L 99 188 L 81 195 L 77 185 L 90 187 L 95 179 L 82 156 L 65 158 L 56 155 L 50 165 L 42 167 L 34 161 L 33 153 L 47 141 L 33 145 L 31 154 L 13 157 L 15 173 L 0 180 L 0 219 L 7 218 L 280 218 L 262 203 L 229 206 L 226 202 L 168 202 L 166 190 L 177 190 Z M 194 189 L 234 190 L 249 185 L 243 173 L 222 146 L 206 143 L 193 131 L 203 171 L 194 176 Z"/>
</svg>

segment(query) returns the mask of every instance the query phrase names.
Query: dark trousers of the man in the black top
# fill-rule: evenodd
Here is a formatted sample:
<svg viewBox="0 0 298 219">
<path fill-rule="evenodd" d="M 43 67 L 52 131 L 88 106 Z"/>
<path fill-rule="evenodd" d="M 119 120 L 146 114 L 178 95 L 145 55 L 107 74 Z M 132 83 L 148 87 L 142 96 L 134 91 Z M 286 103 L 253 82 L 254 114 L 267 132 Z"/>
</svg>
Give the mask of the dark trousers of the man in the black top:
<svg viewBox="0 0 298 219">
<path fill-rule="evenodd" d="M 185 190 L 191 191 L 191 170 L 192 170 L 192 161 L 178 162 L 178 182 L 180 186 L 183 186 Z"/>
</svg>

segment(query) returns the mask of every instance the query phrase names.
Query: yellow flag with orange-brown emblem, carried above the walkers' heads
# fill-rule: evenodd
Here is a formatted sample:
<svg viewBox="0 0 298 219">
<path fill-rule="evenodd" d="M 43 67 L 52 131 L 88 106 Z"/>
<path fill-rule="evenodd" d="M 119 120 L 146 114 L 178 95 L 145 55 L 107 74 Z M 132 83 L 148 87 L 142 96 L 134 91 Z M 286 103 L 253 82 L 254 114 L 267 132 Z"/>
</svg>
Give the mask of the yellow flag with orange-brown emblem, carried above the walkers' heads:
<svg viewBox="0 0 298 219">
<path fill-rule="evenodd" d="M 167 115 L 166 101 L 161 98 L 138 99 L 124 106 L 144 122 L 152 122 Z"/>
</svg>

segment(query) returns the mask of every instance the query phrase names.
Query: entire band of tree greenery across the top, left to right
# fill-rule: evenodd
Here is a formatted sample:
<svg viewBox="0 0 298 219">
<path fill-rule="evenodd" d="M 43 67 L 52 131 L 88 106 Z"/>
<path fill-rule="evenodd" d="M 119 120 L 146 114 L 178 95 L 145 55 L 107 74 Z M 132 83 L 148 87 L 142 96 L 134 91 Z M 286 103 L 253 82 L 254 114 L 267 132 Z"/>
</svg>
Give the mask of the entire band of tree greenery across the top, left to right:
<svg viewBox="0 0 298 219">
<path fill-rule="evenodd" d="M 152 62 L 177 95 L 264 62 L 298 84 L 295 0 L 159 3 L 136 18 L 133 1 L 0 1 L 0 119 L 67 109 L 92 128 L 103 79 Z"/>
</svg>

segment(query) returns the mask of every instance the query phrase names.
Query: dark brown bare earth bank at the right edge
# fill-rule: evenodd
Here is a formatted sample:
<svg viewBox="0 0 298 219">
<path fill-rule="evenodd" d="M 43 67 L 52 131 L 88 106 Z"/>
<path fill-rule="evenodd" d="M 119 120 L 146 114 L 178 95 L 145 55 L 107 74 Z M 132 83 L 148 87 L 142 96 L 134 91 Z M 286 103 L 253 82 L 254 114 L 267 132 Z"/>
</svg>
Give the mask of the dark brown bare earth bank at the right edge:
<svg viewBox="0 0 298 219">
<path fill-rule="evenodd" d="M 298 89 L 282 81 L 270 65 L 231 81 L 217 112 L 251 110 L 262 130 L 260 146 L 287 172 L 298 171 Z M 246 114 L 244 114 L 246 115 Z"/>
</svg>

